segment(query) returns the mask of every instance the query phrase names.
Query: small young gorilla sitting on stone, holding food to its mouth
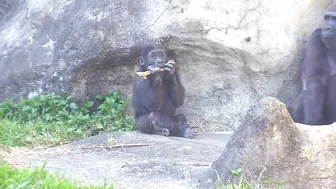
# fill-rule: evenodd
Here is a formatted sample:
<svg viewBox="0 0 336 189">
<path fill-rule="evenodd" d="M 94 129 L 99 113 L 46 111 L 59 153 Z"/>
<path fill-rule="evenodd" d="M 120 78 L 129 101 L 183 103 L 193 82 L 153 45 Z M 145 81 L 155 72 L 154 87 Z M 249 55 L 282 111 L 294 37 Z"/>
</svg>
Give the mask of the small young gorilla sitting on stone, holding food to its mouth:
<svg viewBox="0 0 336 189">
<path fill-rule="evenodd" d="M 141 52 L 140 71 L 146 77 L 135 81 L 132 106 L 137 129 L 142 133 L 194 138 L 184 114 L 175 115 L 184 103 L 185 89 L 181 84 L 174 60 L 167 61 L 166 51 L 158 45 L 147 45 Z"/>
</svg>

